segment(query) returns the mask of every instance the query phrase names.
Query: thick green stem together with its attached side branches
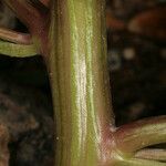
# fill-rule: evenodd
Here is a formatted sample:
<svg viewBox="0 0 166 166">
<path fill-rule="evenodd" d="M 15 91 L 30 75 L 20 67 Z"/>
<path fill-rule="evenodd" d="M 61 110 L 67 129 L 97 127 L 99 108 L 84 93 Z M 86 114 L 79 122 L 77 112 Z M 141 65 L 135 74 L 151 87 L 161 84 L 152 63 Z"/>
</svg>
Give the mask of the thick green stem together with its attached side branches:
<svg viewBox="0 0 166 166">
<path fill-rule="evenodd" d="M 166 116 L 114 127 L 105 0 L 52 0 L 51 18 L 25 0 L 3 1 L 27 23 L 35 45 L 1 41 L 0 53 L 29 56 L 40 48 L 46 61 L 56 126 L 55 166 L 165 166 L 133 157 L 146 146 L 165 143 Z"/>
</svg>

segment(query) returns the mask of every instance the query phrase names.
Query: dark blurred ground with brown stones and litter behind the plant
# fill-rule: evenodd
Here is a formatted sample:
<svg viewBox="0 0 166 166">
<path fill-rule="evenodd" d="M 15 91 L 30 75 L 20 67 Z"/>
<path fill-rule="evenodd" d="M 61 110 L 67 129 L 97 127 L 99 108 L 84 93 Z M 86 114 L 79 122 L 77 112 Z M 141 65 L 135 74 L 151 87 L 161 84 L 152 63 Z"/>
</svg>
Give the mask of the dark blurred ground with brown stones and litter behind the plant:
<svg viewBox="0 0 166 166">
<path fill-rule="evenodd" d="M 27 32 L 1 2 L 0 25 Z M 166 0 L 107 0 L 106 28 L 116 125 L 166 114 Z M 0 125 L 10 135 L 0 133 L 0 147 L 9 143 L 0 162 L 10 153 L 10 166 L 52 165 L 52 117 L 41 56 L 0 55 Z"/>
</svg>

